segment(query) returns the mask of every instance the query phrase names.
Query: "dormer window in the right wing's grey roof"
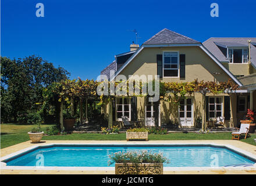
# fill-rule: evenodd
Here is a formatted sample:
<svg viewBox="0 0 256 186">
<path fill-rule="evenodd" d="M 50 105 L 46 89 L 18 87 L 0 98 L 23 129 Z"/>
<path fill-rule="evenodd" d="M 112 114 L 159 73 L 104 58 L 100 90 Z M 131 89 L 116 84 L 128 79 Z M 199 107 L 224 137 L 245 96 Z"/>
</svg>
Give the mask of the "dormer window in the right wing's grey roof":
<svg viewBox="0 0 256 186">
<path fill-rule="evenodd" d="M 229 63 L 247 63 L 248 49 L 246 48 L 228 48 L 227 58 Z"/>
</svg>

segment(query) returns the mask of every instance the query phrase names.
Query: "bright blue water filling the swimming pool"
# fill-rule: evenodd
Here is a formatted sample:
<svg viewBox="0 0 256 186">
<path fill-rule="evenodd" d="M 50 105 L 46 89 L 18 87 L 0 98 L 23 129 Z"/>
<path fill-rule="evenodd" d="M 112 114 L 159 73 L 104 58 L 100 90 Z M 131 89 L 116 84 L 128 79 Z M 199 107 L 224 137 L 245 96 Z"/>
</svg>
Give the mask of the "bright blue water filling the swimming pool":
<svg viewBox="0 0 256 186">
<path fill-rule="evenodd" d="M 107 167 L 111 153 L 145 150 L 162 152 L 170 159 L 164 167 L 219 167 L 230 164 L 255 163 L 227 148 L 216 146 L 63 146 L 37 148 L 23 155 L 5 160 L 7 166 L 62 166 L 62 167 Z M 38 160 L 43 164 L 38 164 Z M 213 162 L 214 161 L 214 162 Z M 213 164 L 212 164 L 213 163 Z M 112 164 L 111 166 L 115 166 Z"/>
</svg>

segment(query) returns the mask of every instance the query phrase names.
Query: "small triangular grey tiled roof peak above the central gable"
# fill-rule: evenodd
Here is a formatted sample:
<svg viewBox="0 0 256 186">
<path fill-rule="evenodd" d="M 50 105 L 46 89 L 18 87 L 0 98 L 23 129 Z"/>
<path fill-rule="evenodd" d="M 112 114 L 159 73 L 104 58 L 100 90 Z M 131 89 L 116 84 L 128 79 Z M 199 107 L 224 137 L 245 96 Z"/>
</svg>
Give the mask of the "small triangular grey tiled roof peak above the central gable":
<svg viewBox="0 0 256 186">
<path fill-rule="evenodd" d="M 164 28 L 155 34 L 149 40 L 145 41 L 144 44 L 195 44 L 200 43 L 182 34 L 175 33 L 174 31 Z"/>
</svg>

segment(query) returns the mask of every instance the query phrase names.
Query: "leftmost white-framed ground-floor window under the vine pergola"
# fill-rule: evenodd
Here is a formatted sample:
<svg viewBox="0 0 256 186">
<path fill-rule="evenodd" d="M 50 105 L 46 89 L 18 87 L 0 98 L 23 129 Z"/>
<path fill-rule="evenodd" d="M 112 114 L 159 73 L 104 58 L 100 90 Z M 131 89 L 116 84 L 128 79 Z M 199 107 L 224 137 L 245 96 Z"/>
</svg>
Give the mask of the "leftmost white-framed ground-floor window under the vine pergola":
<svg viewBox="0 0 256 186">
<path fill-rule="evenodd" d="M 116 98 L 116 120 L 122 121 L 122 116 L 127 116 L 131 120 L 130 98 Z"/>
</svg>

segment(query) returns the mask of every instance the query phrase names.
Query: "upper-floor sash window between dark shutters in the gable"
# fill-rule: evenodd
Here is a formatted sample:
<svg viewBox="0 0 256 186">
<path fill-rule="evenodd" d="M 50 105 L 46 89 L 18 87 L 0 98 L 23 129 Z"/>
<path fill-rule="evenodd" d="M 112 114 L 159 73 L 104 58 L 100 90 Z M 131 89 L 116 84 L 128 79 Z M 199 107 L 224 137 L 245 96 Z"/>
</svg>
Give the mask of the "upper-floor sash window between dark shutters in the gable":
<svg viewBox="0 0 256 186">
<path fill-rule="evenodd" d="M 163 52 L 163 77 L 179 77 L 179 52 Z"/>
</svg>

